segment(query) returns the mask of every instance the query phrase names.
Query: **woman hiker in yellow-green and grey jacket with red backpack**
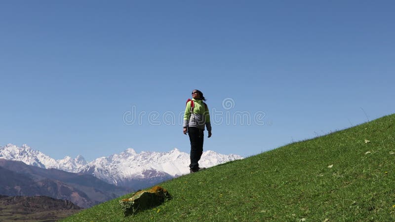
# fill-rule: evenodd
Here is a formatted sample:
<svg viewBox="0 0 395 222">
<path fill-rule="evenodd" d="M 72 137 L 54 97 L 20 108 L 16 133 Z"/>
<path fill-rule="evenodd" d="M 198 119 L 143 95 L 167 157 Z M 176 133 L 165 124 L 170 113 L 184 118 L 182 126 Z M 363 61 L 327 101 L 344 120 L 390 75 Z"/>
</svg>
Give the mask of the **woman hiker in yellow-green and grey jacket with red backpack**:
<svg viewBox="0 0 395 222">
<path fill-rule="evenodd" d="M 188 99 L 185 108 L 183 131 L 184 134 L 188 133 L 191 141 L 191 164 L 189 165 L 191 173 L 204 169 L 200 168 L 198 163 L 203 153 L 204 126 L 207 128 L 208 138 L 211 137 L 210 113 L 203 102 L 205 100 L 203 93 L 195 89 L 192 91 L 192 100 Z"/>
</svg>

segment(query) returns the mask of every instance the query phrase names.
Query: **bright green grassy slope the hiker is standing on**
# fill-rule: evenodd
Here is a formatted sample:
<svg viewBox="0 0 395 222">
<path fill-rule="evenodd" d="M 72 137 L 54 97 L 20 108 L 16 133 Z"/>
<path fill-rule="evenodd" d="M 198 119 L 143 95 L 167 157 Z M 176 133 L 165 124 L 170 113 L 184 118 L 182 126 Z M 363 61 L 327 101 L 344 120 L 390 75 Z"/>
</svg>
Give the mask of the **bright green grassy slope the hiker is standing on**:
<svg viewBox="0 0 395 222">
<path fill-rule="evenodd" d="M 162 183 L 173 199 L 131 217 L 129 194 L 65 221 L 395 221 L 394 163 L 395 114 Z"/>
</svg>

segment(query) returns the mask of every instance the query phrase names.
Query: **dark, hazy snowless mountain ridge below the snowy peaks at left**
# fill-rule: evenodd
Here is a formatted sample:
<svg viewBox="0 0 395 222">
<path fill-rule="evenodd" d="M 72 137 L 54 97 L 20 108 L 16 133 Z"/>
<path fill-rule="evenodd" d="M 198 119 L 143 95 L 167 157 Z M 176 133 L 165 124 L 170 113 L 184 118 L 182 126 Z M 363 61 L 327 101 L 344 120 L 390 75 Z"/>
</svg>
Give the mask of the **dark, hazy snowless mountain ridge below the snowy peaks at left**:
<svg viewBox="0 0 395 222">
<path fill-rule="evenodd" d="M 0 158 L 0 195 L 49 196 L 87 208 L 130 192 L 93 177 Z"/>
</svg>

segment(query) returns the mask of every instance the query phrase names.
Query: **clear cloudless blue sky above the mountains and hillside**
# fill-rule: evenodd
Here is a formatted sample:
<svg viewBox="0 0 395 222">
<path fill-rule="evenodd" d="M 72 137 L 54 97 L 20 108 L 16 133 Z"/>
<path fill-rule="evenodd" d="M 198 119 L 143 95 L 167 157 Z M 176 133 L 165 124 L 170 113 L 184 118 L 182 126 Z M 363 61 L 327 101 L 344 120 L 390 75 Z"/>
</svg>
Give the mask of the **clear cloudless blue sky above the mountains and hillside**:
<svg viewBox="0 0 395 222">
<path fill-rule="evenodd" d="M 394 11 L 359 0 L 0 1 L 0 146 L 87 160 L 189 152 L 179 114 L 193 89 L 218 120 L 204 149 L 224 154 L 391 114 Z"/>
</svg>

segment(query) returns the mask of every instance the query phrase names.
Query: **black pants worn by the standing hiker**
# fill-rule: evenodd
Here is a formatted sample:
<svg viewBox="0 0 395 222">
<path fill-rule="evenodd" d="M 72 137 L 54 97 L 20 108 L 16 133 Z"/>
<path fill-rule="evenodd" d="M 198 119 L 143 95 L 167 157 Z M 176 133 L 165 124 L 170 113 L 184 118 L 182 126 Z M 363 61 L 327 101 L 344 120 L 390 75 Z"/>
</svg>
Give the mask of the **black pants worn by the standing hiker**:
<svg viewBox="0 0 395 222">
<path fill-rule="evenodd" d="M 189 127 L 188 135 L 191 141 L 191 164 L 189 168 L 193 171 L 197 171 L 199 169 L 198 161 L 203 153 L 203 130 L 197 127 Z"/>
</svg>

